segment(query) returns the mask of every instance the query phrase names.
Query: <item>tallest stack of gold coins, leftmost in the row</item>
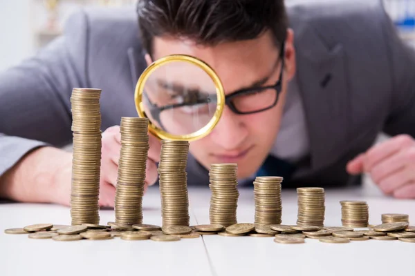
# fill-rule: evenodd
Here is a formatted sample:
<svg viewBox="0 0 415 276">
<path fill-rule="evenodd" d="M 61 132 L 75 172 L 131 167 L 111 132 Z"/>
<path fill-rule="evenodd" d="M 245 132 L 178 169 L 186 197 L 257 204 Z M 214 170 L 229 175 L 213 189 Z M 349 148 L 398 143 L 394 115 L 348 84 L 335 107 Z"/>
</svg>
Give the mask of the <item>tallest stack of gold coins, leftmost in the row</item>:
<svg viewBox="0 0 415 276">
<path fill-rule="evenodd" d="M 100 95 L 99 89 L 74 88 L 72 92 L 72 225 L 100 222 Z"/>
</svg>

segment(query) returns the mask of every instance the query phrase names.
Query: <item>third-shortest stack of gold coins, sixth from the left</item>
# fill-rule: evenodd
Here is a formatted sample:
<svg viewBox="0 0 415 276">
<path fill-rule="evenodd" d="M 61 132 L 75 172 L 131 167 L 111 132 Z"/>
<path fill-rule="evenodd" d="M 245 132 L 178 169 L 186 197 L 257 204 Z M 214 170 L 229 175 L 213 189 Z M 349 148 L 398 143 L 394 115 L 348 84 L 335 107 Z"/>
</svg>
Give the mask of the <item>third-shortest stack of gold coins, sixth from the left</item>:
<svg viewBox="0 0 415 276">
<path fill-rule="evenodd" d="M 324 188 L 297 188 L 297 225 L 324 226 Z"/>
</svg>

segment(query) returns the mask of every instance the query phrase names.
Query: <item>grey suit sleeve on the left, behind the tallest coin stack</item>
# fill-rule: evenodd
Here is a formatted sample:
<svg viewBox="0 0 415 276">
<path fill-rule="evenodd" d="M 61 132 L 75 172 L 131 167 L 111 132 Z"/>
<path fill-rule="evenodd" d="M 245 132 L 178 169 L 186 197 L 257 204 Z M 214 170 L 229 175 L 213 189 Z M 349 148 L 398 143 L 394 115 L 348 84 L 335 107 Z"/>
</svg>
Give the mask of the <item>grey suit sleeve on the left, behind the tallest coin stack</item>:
<svg viewBox="0 0 415 276">
<path fill-rule="evenodd" d="M 0 176 L 30 150 L 71 142 L 71 90 L 89 84 L 88 44 L 87 18 L 79 12 L 62 37 L 0 73 Z"/>
</svg>

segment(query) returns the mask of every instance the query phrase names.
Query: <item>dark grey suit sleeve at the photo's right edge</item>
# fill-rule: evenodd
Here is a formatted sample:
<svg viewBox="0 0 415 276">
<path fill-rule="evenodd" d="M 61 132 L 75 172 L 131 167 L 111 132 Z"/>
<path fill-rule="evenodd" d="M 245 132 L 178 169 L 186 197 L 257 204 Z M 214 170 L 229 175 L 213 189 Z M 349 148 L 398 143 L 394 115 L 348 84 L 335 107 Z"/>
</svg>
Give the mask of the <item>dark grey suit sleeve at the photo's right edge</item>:
<svg viewBox="0 0 415 276">
<path fill-rule="evenodd" d="M 389 115 L 383 130 L 388 135 L 408 134 L 415 138 L 415 48 L 398 37 L 391 19 L 385 10 L 382 12 L 392 79 Z"/>
</svg>

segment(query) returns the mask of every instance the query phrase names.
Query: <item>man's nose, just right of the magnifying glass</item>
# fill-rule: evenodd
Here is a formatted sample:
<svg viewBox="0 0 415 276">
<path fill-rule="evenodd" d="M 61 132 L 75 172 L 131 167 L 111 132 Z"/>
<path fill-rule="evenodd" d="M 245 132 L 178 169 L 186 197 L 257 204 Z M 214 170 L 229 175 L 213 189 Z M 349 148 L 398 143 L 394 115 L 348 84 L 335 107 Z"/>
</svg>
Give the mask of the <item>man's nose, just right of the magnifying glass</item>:
<svg viewBox="0 0 415 276">
<path fill-rule="evenodd" d="M 219 123 L 210 136 L 215 144 L 225 150 L 239 148 L 248 136 L 248 129 L 241 120 L 241 116 L 234 114 L 232 110 L 225 106 Z"/>
</svg>

